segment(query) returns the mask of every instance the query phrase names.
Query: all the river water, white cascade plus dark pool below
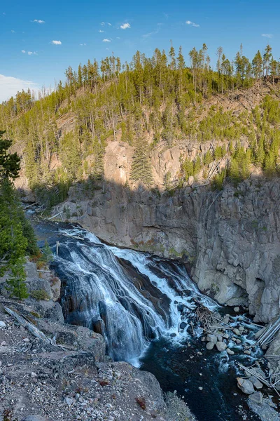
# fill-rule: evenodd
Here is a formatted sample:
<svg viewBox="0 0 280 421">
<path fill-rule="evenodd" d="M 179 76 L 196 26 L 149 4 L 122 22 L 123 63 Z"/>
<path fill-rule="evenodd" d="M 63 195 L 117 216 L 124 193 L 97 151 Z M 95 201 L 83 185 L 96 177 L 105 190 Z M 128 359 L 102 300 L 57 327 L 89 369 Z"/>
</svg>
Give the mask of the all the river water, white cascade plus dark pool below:
<svg viewBox="0 0 280 421">
<path fill-rule="evenodd" d="M 34 228 L 41 246 L 47 239 L 55 251 L 59 241 L 52 266 L 62 279 L 66 323 L 102 333 L 112 359 L 153 373 L 198 421 L 260 420 L 236 381 L 237 361 L 251 365 L 260 349 L 251 356 L 205 349 L 202 329 L 190 326 L 195 303 L 223 314 L 230 309 L 200 293 L 181 263 L 106 245 L 74 225 L 34 222 Z M 242 341 L 251 344 L 254 332 L 250 325 Z"/>
</svg>

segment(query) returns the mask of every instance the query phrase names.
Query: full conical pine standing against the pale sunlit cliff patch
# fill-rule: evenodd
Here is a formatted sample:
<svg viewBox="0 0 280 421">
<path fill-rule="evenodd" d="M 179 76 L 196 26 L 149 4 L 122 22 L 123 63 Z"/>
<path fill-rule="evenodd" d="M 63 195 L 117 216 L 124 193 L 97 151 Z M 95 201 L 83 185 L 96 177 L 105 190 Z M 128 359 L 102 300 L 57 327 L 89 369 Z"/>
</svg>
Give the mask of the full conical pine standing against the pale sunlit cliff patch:
<svg viewBox="0 0 280 421">
<path fill-rule="evenodd" d="M 134 181 L 142 182 L 146 187 L 153 184 L 152 165 L 148 152 L 147 140 L 144 137 L 139 137 L 135 144 L 130 177 Z"/>
</svg>

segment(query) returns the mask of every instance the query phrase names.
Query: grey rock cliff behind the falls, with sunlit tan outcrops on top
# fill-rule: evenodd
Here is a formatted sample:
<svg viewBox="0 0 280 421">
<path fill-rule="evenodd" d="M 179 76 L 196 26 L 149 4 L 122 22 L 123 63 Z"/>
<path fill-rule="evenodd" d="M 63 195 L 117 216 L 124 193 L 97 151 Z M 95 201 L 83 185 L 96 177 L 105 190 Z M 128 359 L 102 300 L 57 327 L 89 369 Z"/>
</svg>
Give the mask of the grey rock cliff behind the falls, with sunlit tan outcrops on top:
<svg viewBox="0 0 280 421">
<path fill-rule="evenodd" d="M 179 171 L 180 149 L 173 149 L 153 156 L 159 187 L 167 169 L 172 177 Z M 71 187 L 59 207 L 64 217 L 118 246 L 183 258 L 200 290 L 223 304 L 248 305 L 255 321 L 279 314 L 280 180 L 255 176 L 221 192 L 147 191 L 127 185 L 131 155 L 132 148 L 111 143 L 106 182 L 90 199 Z"/>
</svg>

